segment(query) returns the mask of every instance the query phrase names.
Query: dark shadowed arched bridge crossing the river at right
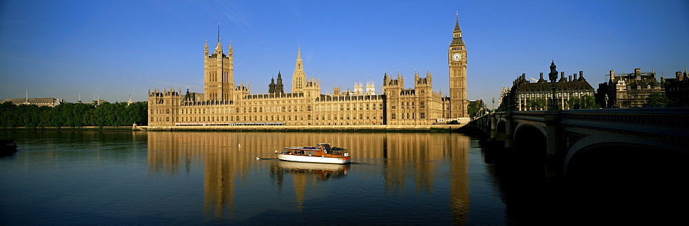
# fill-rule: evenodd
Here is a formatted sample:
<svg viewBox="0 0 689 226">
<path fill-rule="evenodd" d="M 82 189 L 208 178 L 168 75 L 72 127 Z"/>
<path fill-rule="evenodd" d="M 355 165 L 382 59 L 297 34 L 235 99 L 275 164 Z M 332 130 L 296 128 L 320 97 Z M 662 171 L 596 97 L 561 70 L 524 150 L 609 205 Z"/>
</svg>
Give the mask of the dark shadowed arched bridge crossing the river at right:
<svg viewBox="0 0 689 226">
<path fill-rule="evenodd" d="M 469 126 L 518 156 L 543 161 L 546 176 L 689 173 L 686 107 L 495 112 Z"/>
</svg>

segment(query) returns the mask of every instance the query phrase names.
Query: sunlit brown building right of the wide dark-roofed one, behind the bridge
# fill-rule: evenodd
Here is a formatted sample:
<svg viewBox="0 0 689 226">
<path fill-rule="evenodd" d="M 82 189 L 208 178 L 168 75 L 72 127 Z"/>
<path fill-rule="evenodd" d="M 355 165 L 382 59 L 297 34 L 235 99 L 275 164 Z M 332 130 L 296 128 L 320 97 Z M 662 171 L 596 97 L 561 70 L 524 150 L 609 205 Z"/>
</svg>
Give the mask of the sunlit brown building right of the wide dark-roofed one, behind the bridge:
<svg viewBox="0 0 689 226">
<path fill-rule="evenodd" d="M 641 68 L 629 74 L 615 74 L 610 70 L 610 79 L 600 83 L 598 89 L 599 105 L 606 108 L 644 107 L 650 94 L 665 91 L 664 85 L 656 79 L 655 70 L 641 72 Z"/>
</svg>

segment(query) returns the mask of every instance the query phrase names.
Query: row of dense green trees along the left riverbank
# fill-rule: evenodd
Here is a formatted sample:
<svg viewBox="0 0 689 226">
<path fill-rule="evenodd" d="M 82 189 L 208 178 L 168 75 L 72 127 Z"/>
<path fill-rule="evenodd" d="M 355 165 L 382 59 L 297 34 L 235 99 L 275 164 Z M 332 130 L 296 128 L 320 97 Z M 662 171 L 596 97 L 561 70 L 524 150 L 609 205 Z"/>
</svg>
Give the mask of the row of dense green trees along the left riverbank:
<svg viewBox="0 0 689 226">
<path fill-rule="evenodd" d="M 62 103 L 55 107 L 0 103 L 0 127 L 83 127 L 148 124 L 147 102 Z"/>
</svg>

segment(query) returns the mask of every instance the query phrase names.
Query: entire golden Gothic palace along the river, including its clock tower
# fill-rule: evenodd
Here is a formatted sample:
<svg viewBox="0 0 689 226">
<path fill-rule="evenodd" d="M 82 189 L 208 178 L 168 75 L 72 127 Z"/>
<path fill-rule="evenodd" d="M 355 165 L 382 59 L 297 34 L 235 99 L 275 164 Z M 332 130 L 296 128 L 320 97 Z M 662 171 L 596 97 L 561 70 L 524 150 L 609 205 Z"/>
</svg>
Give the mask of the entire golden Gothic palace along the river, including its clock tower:
<svg viewBox="0 0 689 226">
<path fill-rule="evenodd" d="M 455 19 L 448 49 L 450 96 L 433 91 L 433 76 L 414 73 L 413 88 L 404 88 L 400 73 L 384 74 L 382 94 L 373 83 L 356 85 L 353 92 L 322 94 L 320 79 L 308 79 L 301 48 L 286 93 L 282 74 L 271 81 L 268 94 L 250 94 L 250 85 L 234 83 L 232 42 L 227 52 L 218 37 L 213 52 L 204 50 L 204 94 L 163 88 L 148 90 L 151 127 L 182 125 L 387 125 L 429 127 L 433 123 L 468 117 L 466 48 L 459 19 Z"/>
</svg>

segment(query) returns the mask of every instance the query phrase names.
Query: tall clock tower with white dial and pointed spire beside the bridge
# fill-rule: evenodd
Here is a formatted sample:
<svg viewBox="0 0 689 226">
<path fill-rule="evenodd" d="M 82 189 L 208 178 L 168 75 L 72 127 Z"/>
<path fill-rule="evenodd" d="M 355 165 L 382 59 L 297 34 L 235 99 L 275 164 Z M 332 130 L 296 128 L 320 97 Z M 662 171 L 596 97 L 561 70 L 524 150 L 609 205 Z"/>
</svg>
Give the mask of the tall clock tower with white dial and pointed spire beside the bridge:
<svg viewBox="0 0 689 226">
<path fill-rule="evenodd" d="M 450 116 L 451 119 L 466 118 L 466 49 L 462 41 L 460 19 L 457 15 L 452 43 L 447 51 L 450 67 Z"/>
</svg>

